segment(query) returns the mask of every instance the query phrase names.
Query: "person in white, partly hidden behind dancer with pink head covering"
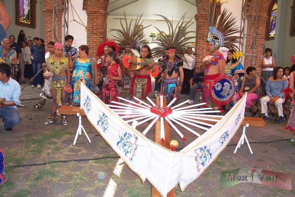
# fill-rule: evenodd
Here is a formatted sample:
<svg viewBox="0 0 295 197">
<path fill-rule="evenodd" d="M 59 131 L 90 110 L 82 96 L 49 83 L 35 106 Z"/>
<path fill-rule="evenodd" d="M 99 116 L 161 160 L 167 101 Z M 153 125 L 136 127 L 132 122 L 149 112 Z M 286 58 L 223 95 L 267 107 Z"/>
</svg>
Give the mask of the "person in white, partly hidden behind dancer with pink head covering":
<svg viewBox="0 0 295 197">
<path fill-rule="evenodd" d="M 50 41 L 47 43 L 47 49 L 48 52 L 45 54 L 45 60 L 47 60 L 47 58 L 52 57 L 54 55 L 54 42 Z M 42 66 L 44 67 L 44 70 L 46 70 L 46 63 L 43 63 Z M 41 99 L 39 100 L 38 103 L 32 105 L 32 107 L 37 108 L 37 109 L 42 109 L 42 107 L 45 105 L 46 103 L 46 99 L 52 100 L 52 96 L 51 96 L 51 78 L 49 78 L 48 80 L 45 79 L 44 82 L 44 87 L 41 91 L 40 97 Z"/>
</svg>

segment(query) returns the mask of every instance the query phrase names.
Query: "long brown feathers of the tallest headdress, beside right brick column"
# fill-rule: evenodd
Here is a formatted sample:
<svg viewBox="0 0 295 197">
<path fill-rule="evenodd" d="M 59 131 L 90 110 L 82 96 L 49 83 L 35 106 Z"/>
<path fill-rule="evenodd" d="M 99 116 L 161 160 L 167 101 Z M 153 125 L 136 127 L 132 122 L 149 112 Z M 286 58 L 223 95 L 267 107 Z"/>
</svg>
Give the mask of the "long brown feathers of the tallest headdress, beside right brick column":
<svg viewBox="0 0 295 197">
<path fill-rule="evenodd" d="M 224 9 L 217 22 L 217 0 L 209 0 L 207 6 L 205 5 L 204 0 L 201 0 L 201 2 L 205 8 L 207 18 L 210 19 L 209 26 L 216 27 L 216 30 L 222 33 L 224 37 L 224 47 L 238 49 L 236 44 L 239 43 L 239 36 L 233 35 L 235 33 L 240 33 L 239 28 L 236 25 L 236 17 L 233 17 L 232 12 Z"/>
</svg>

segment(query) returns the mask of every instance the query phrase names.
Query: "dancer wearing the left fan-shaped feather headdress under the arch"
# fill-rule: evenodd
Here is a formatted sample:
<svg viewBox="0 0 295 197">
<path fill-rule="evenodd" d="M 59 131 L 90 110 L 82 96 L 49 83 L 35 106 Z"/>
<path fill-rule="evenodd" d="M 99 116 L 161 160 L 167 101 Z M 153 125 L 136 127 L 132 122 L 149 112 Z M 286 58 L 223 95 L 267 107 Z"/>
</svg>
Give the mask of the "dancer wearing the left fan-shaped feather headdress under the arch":
<svg viewBox="0 0 295 197">
<path fill-rule="evenodd" d="M 143 13 L 142 13 L 143 14 Z M 122 94 L 121 97 L 125 98 L 127 91 L 130 90 L 131 87 L 131 80 L 134 76 L 134 71 L 129 71 L 128 67 L 131 63 L 131 60 L 136 58 L 136 55 L 131 51 L 131 49 L 137 49 L 140 45 L 142 45 L 142 42 L 144 40 L 144 34 L 143 29 L 149 27 L 142 27 L 142 14 L 139 16 L 137 15 L 137 18 L 135 20 L 134 28 L 131 29 L 132 19 L 130 23 L 127 23 L 126 14 L 124 12 L 124 21 L 125 21 L 125 27 L 122 24 L 122 21 L 120 19 L 120 24 L 122 29 L 111 29 L 111 31 L 115 31 L 117 34 L 114 36 L 116 39 L 116 42 L 118 43 L 119 47 L 122 49 L 125 49 L 125 52 L 122 53 L 119 56 L 119 59 L 123 62 L 124 66 L 122 66 L 122 82 L 123 82 L 123 88 L 122 88 Z M 131 95 L 130 95 L 131 96 Z M 132 97 L 132 96 L 131 96 Z"/>
</svg>

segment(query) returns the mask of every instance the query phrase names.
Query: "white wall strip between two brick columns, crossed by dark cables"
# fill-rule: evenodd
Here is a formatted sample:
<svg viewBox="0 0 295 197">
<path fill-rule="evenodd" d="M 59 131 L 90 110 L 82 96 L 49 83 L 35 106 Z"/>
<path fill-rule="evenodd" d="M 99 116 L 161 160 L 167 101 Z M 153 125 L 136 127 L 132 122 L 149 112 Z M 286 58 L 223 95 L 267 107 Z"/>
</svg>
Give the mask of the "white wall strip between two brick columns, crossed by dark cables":
<svg viewBox="0 0 295 197">
<path fill-rule="evenodd" d="M 85 10 L 83 10 L 83 0 L 71 0 L 73 8 L 77 11 L 80 19 L 84 23 L 85 26 L 87 26 L 87 13 Z M 73 9 L 73 14 L 72 14 L 72 9 L 71 5 L 69 4 L 69 13 L 68 13 L 68 34 L 72 35 L 74 37 L 74 42 L 73 42 L 73 47 L 78 48 L 82 44 L 87 44 L 87 32 L 86 29 L 80 25 L 79 23 L 82 23 L 76 14 L 76 12 Z M 72 21 L 73 20 L 73 15 L 74 19 L 78 21 L 79 23 Z"/>
</svg>

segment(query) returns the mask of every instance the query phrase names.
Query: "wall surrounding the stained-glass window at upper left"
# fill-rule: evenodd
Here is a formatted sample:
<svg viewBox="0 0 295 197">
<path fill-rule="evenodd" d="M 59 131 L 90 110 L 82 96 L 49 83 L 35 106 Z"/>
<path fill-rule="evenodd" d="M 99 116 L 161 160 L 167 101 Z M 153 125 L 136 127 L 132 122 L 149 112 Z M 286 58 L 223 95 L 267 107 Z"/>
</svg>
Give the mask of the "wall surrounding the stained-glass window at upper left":
<svg viewBox="0 0 295 197">
<path fill-rule="evenodd" d="M 15 0 L 2 0 L 5 8 L 7 9 L 10 18 L 11 25 L 7 30 L 7 37 L 9 35 L 14 35 L 17 42 L 18 34 L 21 30 L 24 30 L 28 39 L 32 39 L 33 37 L 44 38 L 44 16 L 43 16 L 43 0 L 37 0 L 36 4 L 36 28 L 27 28 L 23 26 L 18 26 L 15 24 Z"/>
</svg>

